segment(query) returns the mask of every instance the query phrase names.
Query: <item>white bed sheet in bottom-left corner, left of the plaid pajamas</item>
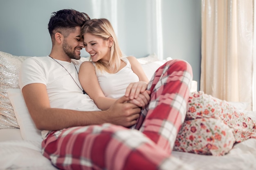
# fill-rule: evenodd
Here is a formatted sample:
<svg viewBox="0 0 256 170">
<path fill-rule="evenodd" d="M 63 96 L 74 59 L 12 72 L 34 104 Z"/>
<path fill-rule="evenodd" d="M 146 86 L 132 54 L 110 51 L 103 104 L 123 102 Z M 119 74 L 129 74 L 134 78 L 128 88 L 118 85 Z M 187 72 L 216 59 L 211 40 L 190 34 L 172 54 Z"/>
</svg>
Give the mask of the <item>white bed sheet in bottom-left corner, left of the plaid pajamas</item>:
<svg viewBox="0 0 256 170">
<path fill-rule="evenodd" d="M 40 142 L 23 140 L 20 129 L 0 129 L 0 137 L 0 170 L 56 170 Z"/>
</svg>

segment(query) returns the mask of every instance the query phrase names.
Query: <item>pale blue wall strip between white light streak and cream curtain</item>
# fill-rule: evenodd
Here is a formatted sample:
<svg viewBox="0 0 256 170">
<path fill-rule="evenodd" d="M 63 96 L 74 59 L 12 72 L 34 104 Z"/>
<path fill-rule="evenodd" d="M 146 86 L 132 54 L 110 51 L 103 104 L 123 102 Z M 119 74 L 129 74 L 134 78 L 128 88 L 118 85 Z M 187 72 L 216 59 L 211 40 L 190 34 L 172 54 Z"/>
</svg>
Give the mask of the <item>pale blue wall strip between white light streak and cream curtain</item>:
<svg viewBox="0 0 256 170">
<path fill-rule="evenodd" d="M 164 56 L 188 61 L 193 79 L 200 83 L 201 0 L 163 0 Z"/>
</svg>

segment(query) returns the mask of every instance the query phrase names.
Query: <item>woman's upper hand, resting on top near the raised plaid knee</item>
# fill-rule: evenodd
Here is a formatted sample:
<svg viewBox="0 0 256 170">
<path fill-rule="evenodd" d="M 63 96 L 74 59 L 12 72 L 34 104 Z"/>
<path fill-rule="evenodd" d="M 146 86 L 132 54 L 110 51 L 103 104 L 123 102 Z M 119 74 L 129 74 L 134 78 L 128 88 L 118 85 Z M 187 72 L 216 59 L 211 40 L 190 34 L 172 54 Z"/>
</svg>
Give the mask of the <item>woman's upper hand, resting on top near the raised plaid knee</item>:
<svg viewBox="0 0 256 170">
<path fill-rule="evenodd" d="M 138 81 L 136 83 L 130 83 L 126 88 L 125 96 L 129 97 L 130 100 L 137 99 L 139 94 L 144 93 L 147 89 L 148 83 L 144 81 Z"/>
</svg>

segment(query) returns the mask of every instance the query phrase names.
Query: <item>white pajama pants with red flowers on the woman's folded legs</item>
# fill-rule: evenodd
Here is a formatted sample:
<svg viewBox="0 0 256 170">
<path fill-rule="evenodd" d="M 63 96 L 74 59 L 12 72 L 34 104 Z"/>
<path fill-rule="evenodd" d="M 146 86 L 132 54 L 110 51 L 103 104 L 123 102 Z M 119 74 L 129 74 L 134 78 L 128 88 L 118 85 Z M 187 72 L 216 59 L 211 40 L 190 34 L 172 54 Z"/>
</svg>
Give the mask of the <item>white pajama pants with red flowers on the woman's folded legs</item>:
<svg viewBox="0 0 256 170">
<path fill-rule="evenodd" d="M 220 156 L 234 143 L 250 138 L 256 138 L 256 122 L 243 111 L 204 92 L 193 92 L 174 150 Z"/>
</svg>

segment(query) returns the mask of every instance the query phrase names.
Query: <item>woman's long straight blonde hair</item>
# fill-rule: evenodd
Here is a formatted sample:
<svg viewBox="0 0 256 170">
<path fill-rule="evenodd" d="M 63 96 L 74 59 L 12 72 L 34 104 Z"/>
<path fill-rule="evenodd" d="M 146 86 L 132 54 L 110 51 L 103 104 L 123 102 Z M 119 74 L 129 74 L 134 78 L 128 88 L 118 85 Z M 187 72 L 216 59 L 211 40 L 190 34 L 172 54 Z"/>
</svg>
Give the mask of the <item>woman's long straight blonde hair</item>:
<svg viewBox="0 0 256 170">
<path fill-rule="evenodd" d="M 85 22 L 85 24 L 81 28 L 80 37 L 82 39 L 85 33 L 95 35 L 104 40 L 107 40 L 108 38 L 112 37 L 113 45 L 110 47 L 110 60 L 108 62 L 108 65 L 101 60 L 95 62 L 95 64 L 97 69 L 99 70 L 108 71 L 111 68 L 111 69 L 116 69 L 117 71 L 121 64 L 120 57 L 122 57 L 123 54 L 119 47 L 117 36 L 115 35 L 115 31 L 111 23 L 109 22 L 109 20 L 105 18 L 88 20 L 87 22 Z"/>
</svg>

